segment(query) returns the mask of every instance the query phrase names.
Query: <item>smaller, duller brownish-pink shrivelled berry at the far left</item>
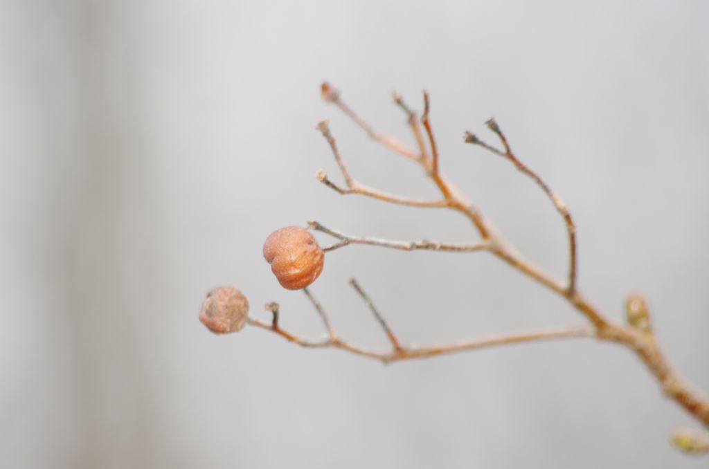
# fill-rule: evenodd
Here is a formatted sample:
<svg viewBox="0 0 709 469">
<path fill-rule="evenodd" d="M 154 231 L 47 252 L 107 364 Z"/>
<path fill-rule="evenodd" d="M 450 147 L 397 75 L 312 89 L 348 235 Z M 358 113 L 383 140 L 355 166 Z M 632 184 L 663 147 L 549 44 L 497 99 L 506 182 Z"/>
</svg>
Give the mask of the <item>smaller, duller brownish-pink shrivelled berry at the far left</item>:
<svg viewBox="0 0 709 469">
<path fill-rule="evenodd" d="M 233 287 L 217 287 L 207 293 L 199 320 L 215 334 L 237 332 L 246 324 L 249 300 Z"/>
</svg>

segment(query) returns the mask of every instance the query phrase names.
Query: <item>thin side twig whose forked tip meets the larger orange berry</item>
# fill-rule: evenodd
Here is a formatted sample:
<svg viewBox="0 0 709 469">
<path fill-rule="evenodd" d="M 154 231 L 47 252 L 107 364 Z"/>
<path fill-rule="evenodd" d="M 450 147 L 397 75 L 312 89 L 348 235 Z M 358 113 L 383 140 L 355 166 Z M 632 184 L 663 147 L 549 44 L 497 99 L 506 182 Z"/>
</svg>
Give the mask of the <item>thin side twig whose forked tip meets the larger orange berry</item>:
<svg viewBox="0 0 709 469">
<path fill-rule="evenodd" d="M 442 251 L 442 252 L 477 252 L 491 249 L 490 242 L 482 241 L 476 244 L 450 244 L 438 241 L 428 241 L 421 239 L 420 241 L 393 241 L 391 239 L 381 239 L 374 237 L 357 237 L 345 235 L 345 233 L 333 230 L 321 225 L 320 222 L 308 222 L 308 228 L 323 232 L 327 235 L 340 239 L 340 242 L 332 246 L 324 248 L 325 251 L 334 251 L 340 247 L 345 247 L 349 244 L 372 244 L 373 246 L 388 247 L 389 249 L 398 249 L 400 251 Z"/>
</svg>

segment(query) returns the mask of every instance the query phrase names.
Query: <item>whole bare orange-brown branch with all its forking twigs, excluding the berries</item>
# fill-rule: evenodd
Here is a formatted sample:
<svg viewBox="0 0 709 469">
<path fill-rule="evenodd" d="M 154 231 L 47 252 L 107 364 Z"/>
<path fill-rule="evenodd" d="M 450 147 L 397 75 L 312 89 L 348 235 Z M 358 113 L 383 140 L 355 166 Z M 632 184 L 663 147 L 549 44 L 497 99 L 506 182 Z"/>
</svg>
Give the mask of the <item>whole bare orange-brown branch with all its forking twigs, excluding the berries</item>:
<svg viewBox="0 0 709 469">
<path fill-rule="evenodd" d="M 384 329 L 389 341 L 391 342 L 392 349 L 389 351 L 374 351 L 372 349 L 367 349 L 355 344 L 350 343 L 342 339 L 333 329 L 328 315 L 325 314 L 325 310 L 318 301 L 313 298 L 313 295 L 309 290 L 305 290 L 308 299 L 311 300 L 313 307 L 315 307 L 316 312 L 320 315 L 321 320 L 328 331 L 328 338 L 320 341 L 313 341 L 308 339 L 303 339 L 298 337 L 296 334 L 287 332 L 282 329 L 278 321 L 278 307 L 277 304 L 272 303 L 275 307 L 270 307 L 267 309 L 271 310 L 274 314 L 272 322 L 264 322 L 258 320 L 257 318 L 249 317 L 249 324 L 261 327 L 263 329 L 270 330 L 281 337 L 293 341 L 296 344 L 304 347 L 335 347 L 338 349 L 343 349 L 345 351 L 350 351 L 353 354 L 367 356 L 369 358 L 376 358 L 383 363 L 389 363 L 391 361 L 405 360 L 409 358 L 423 358 L 430 356 L 437 356 L 442 354 L 450 354 L 459 351 L 466 351 L 472 349 L 480 349 L 489 346 L 502 345 L 502 344 L 515 344 L 527 341 L 538 341 L 541 339 L 559 339 L 559 338 L 571 338 L 571 337 L 596 337 L 603 341 L 612 341 L 621 344 L 627 349 L 632 350 L 644 363 L 647 369 L 654 375 L 657 379 L 659 385 L 663 392 L 671 399 L 675 400 L 679 405 L 686 409 L 693 417 L 701 422 L 705 427 L 709 428 L 709 400 L 705 399 L 699 395 L 696 391 L 686 385 L 686 383 L 681 379 L 679 374 L 674 370 L 667 361 L 666 357 L 659 348 L 657 341 L 655 340 L 654 334 L 650 327 L 640 327 L 638 324 L 649 324 L 649 314 L 647 310 L 639 311 L 638 308 L 644 308 L 644 303 L 637 301 L 634 303 L 629 303 L 635 308 L 632 311 L 633 315 L 628 316 L 628 324 L 618 324 L 609 320 L 605 315 L 603 315 L 596 307 L 591 305 L 591 303 L 584 298 L 581 291 L 576 285 L 576 225 L 569 213 L 568 208 L 564 202 L 554 193 L 547 183 L 541 179 L 532 169 L 523 164 L 523 162 L 515 156 L 506 136 L 500 130 L 499 125 L 495 120 L 491 119 L 486 124 L 488 128 L 497 135 L 500 139 L 503 150 L 497 149 L 492 145 L 488 145 L 486 142 L 480 140 L 476 135 L 467 132 L 465 141 L 484 147 L 485 149 L 493 152 L 495 154 L 504 157 L 510 162 L 512 162 L 515 167 L 529 176 L 532 180 L 537 183 L 542 191 L 547 194 L 549 200 L 552 201 L 554 208 L 562 215 L 564 222 L 566 224 L 566 231 L 569 237 L 569 276 L 568 282 L 560 282 L 549 276 L 549 274 L 539 269 L 537 266 L 532 264 L 530 261 L 520 256 L 513 247 L 506 242 L 506 239 L 493 229 L 490 222 L 488 222 L 483 215 L 479 212 L 477 208 L 473 205 L 467 203 L 464 196 L 455 188 L 452 183 L 445 178 L 445 176 L 440 172 L 440 155 L 438 153 L 437 145 L 435 142 L 435 137 L 432 132 L 432 127 L 430 124 L 430 99 L 428 93 L 424 91 L 424 111 L 421 116 L 421 124 L 425 129 L 426 135 L 428 137 L 428 147 L 426 146 L 425 139 L 423 137 L 423 132 L 421 132 L 418 126 L 418 120 L 415 118 L 415 113 L 408 108 L 401 96 L 394 94 L 395 103 L 403 109 L 403 111 L 408 116 L 408 125 L 415 137 L 416 144 L 418 146 L 418 152 L 406 147 L 397 140 L 376 132 L 371 125 L 369 125 L 364 119 L 359 117 L 352 109 L 347 106 L 340 96 L 340 92 L 337 89 L 330 86 L 328 83 L 324 83 L 322 86 L 322 94 L 325 101 L 335 104 L 340 108 L 346 115 L 348 115 L 355 124 L 362 128 L 364 132 L 372 139 L 380 142 L 385 147 L 392 149 L 399 154 L 411 159 L 413 162 L 420 164 L 426 171 L 430 179 L 437 185 L 442 193 L 442 200 L 415 200 L 410 198 L 405 198 L 401 196 L 393 196 L 388 193 L 381 192 L 373 188 L 367 188 L 357 183 L 354 178 L 347 171 L 340 152 L 337 149 L 335 143 L 335 138 L 330 133 L 327 121 L 323 121 L 318 125 L 318 130 L 323 133 L 323 137 L 328 140 L 330 144 L 330 149 L 332 149 L 335 161 L 338 166 L 340 166 L 340 171 L 342 171 L 342 176 L 345 178 L 346 188 L 337 186 L 335 183 L 330 181 L 324 172 L 318 171 L 318 179 L 324 183 L 326 186 L 333 188 L 341 194 L 359 194 L 362 196 L 368 196 L 371 198 L 376 198 L 378 200 L 384 200 L 389 203 L 398 203 L 401 205 L 408 205 L 413 207 L 421 208 L 447 208 L 454 210 L 465 217 L 467 217 L 476 228 L 476 231 L 481 237 L 481 241 L 474 244 L 450 244 L 444 242 L 431 242 L 428 240 L 420 241 L 393 241 L 389 239 L 379 239 L 372 237 L 354 237 L 352 235 L 345 235 L 342 232 L 330 229 L 318 222 L 310 222 L 309 227 L 312 230 L 318 230 L 324 232 L 327 235 L 335 237 L 338 242 L 331 245 L 330 247 L 325 247 L 325 251 L 331 252 L 335 249 L 348 246 L 350 244 L 369 244 L 379 247 L 385 247 L 389 249 L 399 249 L 404 251 L 413 250 L 432 250 L 432 251 L 442 251 L 442 252 L 477 252 L 477 251 L 487 251 L 498 256 L 499 259 L 505 261 L 507 264 L 512 266 L 514 269 L 523 273 L 525 276 L 532 278 L 533 280 L 541 283 L 547 288 L 557 293 L 562 298 L 566 299 L 569 304 L 576 310 L 581 312 L 586 320 L 590 323 L 587 326 L 581 327 L 562 327 L 556 329 L 543 329 L 540 331 L 532 332 L 520 332 L 513 334 L 504 334 L 501 336 L 487 337 L 483 339 L 471 339 L 469 341 L 462 342 L 452 342 L 449 344 L 442 344 L 439 346 L 403 346 L 401 342 L 398 341 L 397 337 L 391 332 L 389 325 L 386 323 L 384 318 L 376 309 L 374 303 L 372 303 L 371 298 L 364 293 L 359 284 L 352 280 L 350 283 L 352 287 L 357 290 L 357 293 L 362 297 L 362 299 L 367 303 L 369 309 L 374 314 L 374 317 L 379 322 L 380 326 Z M 430 154 L 429 154 L 430 149 Z M 638 320 L 638 314 L 642 313 L 642 322 Z M 683 446 L 687 451 L 700 451 L 705 448 L 705 440 L 698 439 L 688 439 L 686 434 L 681 435 L 679 446 Z M 694 438 L 694 437 L 693 437 Z M 676 441 L 679 437 L 676 437 Z M 698 448 L 698 449 L 697 449 Z"/>
</svg>

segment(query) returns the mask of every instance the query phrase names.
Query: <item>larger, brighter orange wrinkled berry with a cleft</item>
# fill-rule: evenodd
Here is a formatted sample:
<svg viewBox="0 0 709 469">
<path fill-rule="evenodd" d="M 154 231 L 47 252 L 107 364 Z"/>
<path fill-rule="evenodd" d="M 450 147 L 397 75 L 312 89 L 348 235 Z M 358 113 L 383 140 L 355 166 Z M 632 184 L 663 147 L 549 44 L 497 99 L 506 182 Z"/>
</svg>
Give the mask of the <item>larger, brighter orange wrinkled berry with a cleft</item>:
<svg viewBox="0 0 709 469">
<path fill-rule="evenodd" d="M 264 258 L 283 288 L 299 290 L 313 283 L 323 271 L 325 252 L 305 228 L 285 227 L 267 237 Z"/>
</svg>

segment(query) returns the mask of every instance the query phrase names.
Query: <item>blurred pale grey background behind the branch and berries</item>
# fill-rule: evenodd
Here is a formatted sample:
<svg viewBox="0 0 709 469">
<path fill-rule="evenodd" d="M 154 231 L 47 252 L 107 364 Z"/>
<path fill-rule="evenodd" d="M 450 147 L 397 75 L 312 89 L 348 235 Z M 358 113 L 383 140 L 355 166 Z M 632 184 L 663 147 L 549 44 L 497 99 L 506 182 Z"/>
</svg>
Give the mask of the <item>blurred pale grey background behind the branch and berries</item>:
<svg viewBox="0 0 709 469">
<path fill-rule="evenodd" d="M 572 4 L 573 3 L 573 4 Z M 709 5 L 703 1 L 6 1 L 0 13 L 0 465 L 5 468 L 698 468 L 691 419 L 625 349 L 578 339 L 381 366 L 197 321 L 213 286 L 320 337 L 261 256 L 277 227 L 474 239 L 454 213 L 341 197 L 354 176 L 435 194 L 320 101 L 323 79 L 411 142 L 432 95 L 441 166 L 535 262 L 564 228 L 508 162 L 464 145 L 495 115 L 579 226 L 580 285 L 620 320 L 646 293 L 709 390 Z M 489 137 L 489 140 L 494 140 Z M 323 242 L 327 240 L 320 238 Z M 486 254 L 328 254 L 313 293 L 342 334 L 403 341 L 581 324 Z"/>
</svg>

